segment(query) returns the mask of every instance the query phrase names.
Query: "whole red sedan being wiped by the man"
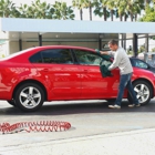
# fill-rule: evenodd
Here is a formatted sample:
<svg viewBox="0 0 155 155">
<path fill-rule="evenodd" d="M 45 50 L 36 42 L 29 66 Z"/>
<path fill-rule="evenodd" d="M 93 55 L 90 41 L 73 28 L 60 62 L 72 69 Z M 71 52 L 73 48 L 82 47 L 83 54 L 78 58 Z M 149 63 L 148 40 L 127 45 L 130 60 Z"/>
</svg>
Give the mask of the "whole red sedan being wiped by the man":
<svg viewBox="0 0 155 155">
<path fill-rule="evenodd" d="M 49 45 L 17 52 L 0 60 L 0 100 L 25 112 L 39 110 L 45 101 L 114 100 L 120 71 L 102 76 L 101 65 L 110 65 L 93 49 Z M 134 68 L 132 78 L 141 104 L 155 95 L 155 74 Z M 127 91 L 124 99 L 131 97 Z"/>
</svg>

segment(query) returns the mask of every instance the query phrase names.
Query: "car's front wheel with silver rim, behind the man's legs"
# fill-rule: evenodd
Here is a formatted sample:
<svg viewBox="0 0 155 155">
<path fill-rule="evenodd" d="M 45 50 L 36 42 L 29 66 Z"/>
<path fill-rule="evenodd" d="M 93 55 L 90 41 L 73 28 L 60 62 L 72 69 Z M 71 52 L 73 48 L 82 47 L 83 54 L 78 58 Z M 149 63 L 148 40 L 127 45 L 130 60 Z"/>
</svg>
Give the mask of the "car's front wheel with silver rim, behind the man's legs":
<svg viewBox="0 0 155 155">
<path fill-rule="evenodd" d="M 133 83 L 133 87 L 141 105 L 148 104 L 153 96 L 153 90 L 152 90 L 151 84 L 145 81 L 136 81 Z M 131 104 L 133 103 L 133 100 L 130 93 L 127 94 L 127 100 Z"/>
</svg>

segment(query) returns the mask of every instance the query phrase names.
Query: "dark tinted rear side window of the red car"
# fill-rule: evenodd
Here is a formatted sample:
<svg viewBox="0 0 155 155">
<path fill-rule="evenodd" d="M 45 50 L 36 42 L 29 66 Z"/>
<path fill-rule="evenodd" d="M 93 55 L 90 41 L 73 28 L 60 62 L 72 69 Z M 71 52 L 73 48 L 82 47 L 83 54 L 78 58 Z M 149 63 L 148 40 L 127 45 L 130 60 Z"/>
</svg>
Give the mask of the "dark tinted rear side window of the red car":
<svg viewBox="0 0 155 155">
<path fill-rule="evenodd" d="M 41 61 L 42 60 L 42 61 Z M 73 64 L 70 49 L 48 49 L 35 53 L 30 58 L 32 63 Z"/>
</svg>

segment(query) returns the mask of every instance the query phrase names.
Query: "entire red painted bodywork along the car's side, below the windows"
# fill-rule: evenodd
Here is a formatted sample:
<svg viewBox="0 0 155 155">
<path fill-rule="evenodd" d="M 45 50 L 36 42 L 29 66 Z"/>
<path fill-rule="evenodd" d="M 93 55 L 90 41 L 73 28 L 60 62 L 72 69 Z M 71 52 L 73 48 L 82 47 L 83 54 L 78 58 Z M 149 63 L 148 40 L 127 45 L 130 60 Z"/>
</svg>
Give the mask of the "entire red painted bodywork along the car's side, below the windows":
<svg viewBox="0 0 155 155">
<path fill-rule="evenodd" d="M 0 100 L 11 100 L 14 87 L 27 80 L 42 83 L 48 92 L 48 101 L 116 97 L 120 83 L 117 69 L 112 71 L 113 76 L 102 78 L 99 65 L 31 64 L 29 56 L 32 52 L 29 52 L 28 58 L 24 54 L 24 58 L 17 56 L 0 62 Z M 155 95 L 154 73 L 134 68 L 132 81 L 140 79 L 152 83 Z"/>
</svg>

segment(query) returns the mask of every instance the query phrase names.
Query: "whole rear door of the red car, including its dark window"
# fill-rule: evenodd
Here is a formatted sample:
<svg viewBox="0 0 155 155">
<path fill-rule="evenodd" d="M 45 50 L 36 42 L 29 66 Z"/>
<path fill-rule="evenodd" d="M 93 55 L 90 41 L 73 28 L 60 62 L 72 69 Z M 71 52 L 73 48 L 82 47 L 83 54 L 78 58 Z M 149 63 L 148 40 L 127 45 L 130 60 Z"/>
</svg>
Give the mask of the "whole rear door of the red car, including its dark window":
<svg viewBox="0 0 155 155">
<path fill-rule="evenodd" d="M 38 55 L 38 56 L 37 56 Z M 39 61 L 40 58 L 41 60 Z M 34 61 L 34 58 L 38 60 Z M 32 61 L 33 60 L 33 61 Z M 70 49 L 48 49 L 30 58 L 42 78 L 48 81 L 50 95 L 55 100 L 79 99 L 81 76 Z"/>
</svg>

